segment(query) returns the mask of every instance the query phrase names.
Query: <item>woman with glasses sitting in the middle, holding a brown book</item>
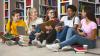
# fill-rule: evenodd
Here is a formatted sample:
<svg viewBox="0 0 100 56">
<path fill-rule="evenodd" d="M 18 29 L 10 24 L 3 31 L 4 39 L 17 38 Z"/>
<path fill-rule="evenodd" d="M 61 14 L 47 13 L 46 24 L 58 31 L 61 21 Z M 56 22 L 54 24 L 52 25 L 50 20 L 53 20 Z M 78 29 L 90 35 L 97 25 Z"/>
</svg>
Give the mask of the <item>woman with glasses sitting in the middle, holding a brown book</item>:
<svg viewBox="0 0 100 56">
<path fill-rule="evenodd" d="M 51 37 L 51 36 L 49 36 L 49 37 L 51 37 L 51 38 L 48 38 L 48 39 L 52 39 L 51 41 L 47 41 L 47 40 L 45 40 L 44 38 L 46 38 L 46 36 L 47 36 L 47 34 L 46 34 L 46 32 L 47 32 L 47 30 L 46 30 L 46 28 L 45 28 L 45 26 L 46 26 L 46 24 L 48 24 L 48 23 L 50 23 L 50 25 L 53 25 L 53 29 L 54 29 L 54 27 L 55 27 L 55 25 L 57 24 L 59 22 L 59 19 L 57 19 L 57 17 L 56 17 L 56 11 L 54 10 L 54 9 L 48 9 L 47 10 L 47 13 L 46 13 L 46 17 L 45 17 L 45 19 L 44 19 L 44 23 L 42 23 L 42 24 L 40 24 L 40 28 L 41 28 L 41 32 L 40 32 L 40 37 L 41 36 L 43 36 L 43 39 L 42 39 L 42 37 L 40 38 L 40 39 L 42 39 L 41 41 L 40 41 L 40 43 L 41 44 L 43 44 L 43 46 L 46 44 L 46 42 L 47 43 L 53 43 L 53 41 L 55 40 L 55 37 Z M 52 34 L 51 34 L 52 35 Z M 56 35 L 56 34 L 55 34 Z M 55 36 L 54 35 L 54 36 Z M 38 42 L 39 43 L 39 42 Z M 39 45 L 38 45 L 39 46 Z"/>
</svg>

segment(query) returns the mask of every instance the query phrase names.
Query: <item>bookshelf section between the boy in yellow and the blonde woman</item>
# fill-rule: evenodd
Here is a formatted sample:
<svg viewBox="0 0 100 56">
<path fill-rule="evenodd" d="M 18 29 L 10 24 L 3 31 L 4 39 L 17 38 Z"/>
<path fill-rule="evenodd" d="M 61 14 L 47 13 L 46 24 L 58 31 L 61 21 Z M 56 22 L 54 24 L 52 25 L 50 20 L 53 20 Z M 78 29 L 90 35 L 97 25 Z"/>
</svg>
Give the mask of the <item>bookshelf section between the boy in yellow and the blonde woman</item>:
<svg viewBox="0 0 100 56">
<path fill-rule="evenodd" d="M 16 9 L 20 11 L 20 18 L 27 20 L 28 11 L 33 8 L 33 0 L 17 0 Z"/>
</svg>

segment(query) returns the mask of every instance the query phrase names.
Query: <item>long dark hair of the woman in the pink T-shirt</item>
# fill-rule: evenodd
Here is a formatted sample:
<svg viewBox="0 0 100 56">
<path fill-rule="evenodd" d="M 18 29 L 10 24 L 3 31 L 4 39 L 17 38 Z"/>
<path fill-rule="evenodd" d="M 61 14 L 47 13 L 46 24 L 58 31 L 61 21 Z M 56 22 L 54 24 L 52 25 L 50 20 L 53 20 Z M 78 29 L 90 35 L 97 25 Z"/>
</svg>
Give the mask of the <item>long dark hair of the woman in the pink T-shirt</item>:
<svg viewBox="0 0 100 56">
<path fill-rule="evenodd" d="M 94 12 L 93 12 L 92 9 L 93 9 L 92 7 L 86 6 L 86 7 L 84 7 L 84 12 L 86 12 L 86 17 L 89 20 L 91 20 L 91 21 L 96 23 L 96 18 L 95 18 L 95 15 L 94 15 Z"/>
</svg>

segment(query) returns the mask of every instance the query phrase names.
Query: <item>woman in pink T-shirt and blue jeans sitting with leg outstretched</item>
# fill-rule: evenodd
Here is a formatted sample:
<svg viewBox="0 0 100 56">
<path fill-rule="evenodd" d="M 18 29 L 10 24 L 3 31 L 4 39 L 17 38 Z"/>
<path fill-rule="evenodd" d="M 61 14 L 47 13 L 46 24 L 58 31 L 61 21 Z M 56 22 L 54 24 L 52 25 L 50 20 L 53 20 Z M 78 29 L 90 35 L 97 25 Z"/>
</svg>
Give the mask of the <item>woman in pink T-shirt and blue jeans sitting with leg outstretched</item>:
<svg viewBox="0 0 100 56">
<path fill-rule="evenodd" d="M 59 48 L 63 48 L 65 46 L 70 46 L 74 43 L 78 43 L 80 45 L 88 45 L 88 48 L 96 47 L 96 35 L 97 35 L 97 24 L 95 20 L 95 16 L 92 13 L 92 10 L 89 10 L 90 7 L 85 7 L 82 10 L 83 19 L 81 20 L 81 25 L 76 30 L 70 28 L 67 32 L 66 40 L 61 43 L 56 43 L 52 45 L 47 45 L 47 47 L 53 51 L 58 51 Z"/>
</svg>

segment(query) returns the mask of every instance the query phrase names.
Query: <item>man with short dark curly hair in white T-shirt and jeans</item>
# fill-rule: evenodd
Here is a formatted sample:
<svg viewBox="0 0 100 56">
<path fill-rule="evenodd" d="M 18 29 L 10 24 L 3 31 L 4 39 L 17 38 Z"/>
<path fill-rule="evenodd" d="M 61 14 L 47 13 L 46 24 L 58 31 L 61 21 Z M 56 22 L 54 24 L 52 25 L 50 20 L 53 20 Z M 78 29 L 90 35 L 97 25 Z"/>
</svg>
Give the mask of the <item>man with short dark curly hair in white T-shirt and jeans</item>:
<svg viewBox="0 0 100 56">
<path fill-rule="evenodd" d="M 58 41 L 64 41 L 67 35 L 67 30 L 69 27 L 77 29 L 78 25 L 79 25 L 79 18 L 76 16 L 76 11 L 77 8 L 74 5 L 69 5 L 67 7 L 67 16 L 63 16 L 60 20 L 60 22 L 64 23 L 63 29 L 60 32 L 57 32 L 57 40 Z M 56 30 L 59 29 L 59 26 L 56 27 Z"/>
</svg>

